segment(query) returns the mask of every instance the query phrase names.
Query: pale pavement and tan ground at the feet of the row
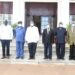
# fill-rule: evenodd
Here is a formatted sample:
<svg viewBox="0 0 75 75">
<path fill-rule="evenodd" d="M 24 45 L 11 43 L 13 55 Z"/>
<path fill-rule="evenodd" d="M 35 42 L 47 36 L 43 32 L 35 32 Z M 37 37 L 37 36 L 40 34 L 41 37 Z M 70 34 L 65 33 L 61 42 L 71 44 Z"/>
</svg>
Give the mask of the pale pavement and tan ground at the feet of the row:
<svg viewBox="0 0 75 75">
<path fill-rule="evenodd" d="M 28 52 L 25 59 L 15 59 L 15 51 L 11 54 L 10 59 L 0 59 L 0 75 L 75 75 L 75 60 L 68 59 L 69 53 L 65 60 L 57 60 L 55 53 L 52 60 L 44 60 L 42 52 L 37 52 L 35 60 L 28 60 Z"/>
</svg>

